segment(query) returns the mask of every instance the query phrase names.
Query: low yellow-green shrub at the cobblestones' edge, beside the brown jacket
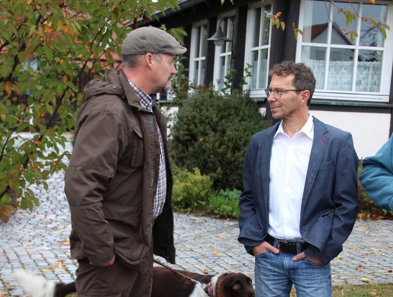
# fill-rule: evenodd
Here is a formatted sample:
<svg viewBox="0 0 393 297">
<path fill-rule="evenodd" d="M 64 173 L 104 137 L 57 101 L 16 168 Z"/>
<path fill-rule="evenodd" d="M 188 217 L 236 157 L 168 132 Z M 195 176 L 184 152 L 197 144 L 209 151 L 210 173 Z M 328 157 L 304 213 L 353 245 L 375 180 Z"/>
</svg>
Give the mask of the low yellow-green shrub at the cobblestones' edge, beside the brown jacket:
<svg viewBox="0 0 393 297">
<path fill-rule="evenodd" d="M 172 206 L 174 211 L 203 209 L 212 193 L 212 180 L 198 168 L 193 173 L 177 167 L 173 171 Z"/>
</svg>

